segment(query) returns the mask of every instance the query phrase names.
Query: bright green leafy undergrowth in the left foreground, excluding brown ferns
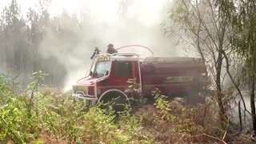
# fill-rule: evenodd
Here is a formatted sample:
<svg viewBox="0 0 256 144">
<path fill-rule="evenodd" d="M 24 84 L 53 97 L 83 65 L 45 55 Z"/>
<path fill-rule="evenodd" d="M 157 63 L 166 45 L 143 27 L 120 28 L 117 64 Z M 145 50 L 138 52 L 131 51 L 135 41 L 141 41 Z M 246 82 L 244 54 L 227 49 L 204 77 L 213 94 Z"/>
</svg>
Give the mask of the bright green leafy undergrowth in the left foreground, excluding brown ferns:
<svg viewBox="0 0 256 144">
<path fill-rule="evenodd" d="M 12 80 L 1 75 L 1 143 L 150 143 L 128 106 L 117 117 L 111 109 L 39 91 L 43 75 L 33 74 L 26 94 L 15 94 Z"/>
</svg>

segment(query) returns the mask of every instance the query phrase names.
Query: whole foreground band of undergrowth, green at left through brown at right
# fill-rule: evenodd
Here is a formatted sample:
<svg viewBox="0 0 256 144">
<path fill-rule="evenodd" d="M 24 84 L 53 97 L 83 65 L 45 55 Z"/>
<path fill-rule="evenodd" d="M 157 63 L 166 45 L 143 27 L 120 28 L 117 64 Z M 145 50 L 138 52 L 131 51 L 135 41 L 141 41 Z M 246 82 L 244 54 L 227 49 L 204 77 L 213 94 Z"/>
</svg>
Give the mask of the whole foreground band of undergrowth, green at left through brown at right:
<svg viewBox="0 0 256 144">
<path fill-rule="evenodd" d="M 42 72 L 25 91 L 0 75 L 1 143 L 212 143 L 225 141 L 218 114 L 207 105 L 167 102 L 158 90 L 154 105 L 118 115 L 100 106 L 86 107 L 72 97 L 38 90 Z M 226 136 L 225 136 L 226 135 Z M 223 136 L 225 136 L 223 138 Z"/>
</svg>

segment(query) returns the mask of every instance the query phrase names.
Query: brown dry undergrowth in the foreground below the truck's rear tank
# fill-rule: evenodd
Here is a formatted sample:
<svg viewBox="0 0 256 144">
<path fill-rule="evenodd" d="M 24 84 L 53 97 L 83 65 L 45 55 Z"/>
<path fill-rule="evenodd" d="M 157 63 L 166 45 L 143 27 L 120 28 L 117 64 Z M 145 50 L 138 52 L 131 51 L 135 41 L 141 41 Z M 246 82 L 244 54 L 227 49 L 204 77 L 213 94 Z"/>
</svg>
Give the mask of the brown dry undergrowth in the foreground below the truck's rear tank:
<svg viewBox="0 0 256 144">
<path fill-rule="evenodd" d="M 152 134 L 155 142 L 213 143 L 222 140 L 225 130 L 220 129 L 218 114 L 211 105 L 192 107 L 171 101 L 168 108 L 171 120 L 163 118 L 152 105 L 142 106 L 135 113 L 144 126 L 144 133 Z"/>
</svg>

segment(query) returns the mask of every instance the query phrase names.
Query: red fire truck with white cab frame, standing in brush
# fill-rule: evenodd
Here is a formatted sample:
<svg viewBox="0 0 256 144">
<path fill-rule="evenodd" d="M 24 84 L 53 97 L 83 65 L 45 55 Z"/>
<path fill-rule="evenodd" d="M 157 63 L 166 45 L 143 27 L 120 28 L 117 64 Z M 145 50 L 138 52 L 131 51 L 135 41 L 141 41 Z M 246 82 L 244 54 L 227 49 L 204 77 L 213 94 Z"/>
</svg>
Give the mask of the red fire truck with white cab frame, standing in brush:
<svg viewBox="0 0 256 144">
<path fill-rule="evenodd" d="M 155 88 L 162 94 L 187 94 L 202 90 L 206 73 L 200 58 L 147 57 L 138 54 L 97 54 L 85 78 L 73 86 L 74 97 L 86 99 L 89 105 L 121 97 L 130 105 L 126 93 L 133 79 L 138 93 L 152 97 Z"/>
</svg>

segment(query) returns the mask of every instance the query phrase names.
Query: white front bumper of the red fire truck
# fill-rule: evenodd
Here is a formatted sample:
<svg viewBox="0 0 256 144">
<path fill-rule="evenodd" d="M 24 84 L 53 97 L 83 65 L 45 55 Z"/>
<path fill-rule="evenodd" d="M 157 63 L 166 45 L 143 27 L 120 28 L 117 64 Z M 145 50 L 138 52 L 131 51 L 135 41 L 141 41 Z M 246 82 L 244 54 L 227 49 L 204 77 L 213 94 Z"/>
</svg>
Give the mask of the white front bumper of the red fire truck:
<svg viewBox="0 0 256 144">
<path fill-rule="evenodd" d="M 72 94 L 76 102 L 86 102 L 86 106 L 95 106 L 98 102 L 98 98 L 89 97 L 84 94 Z"/>
</svg>

